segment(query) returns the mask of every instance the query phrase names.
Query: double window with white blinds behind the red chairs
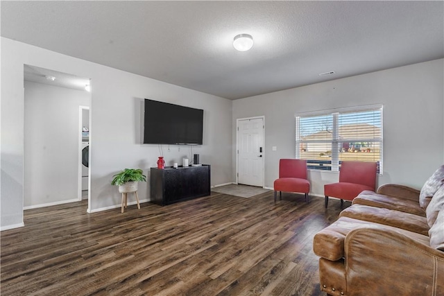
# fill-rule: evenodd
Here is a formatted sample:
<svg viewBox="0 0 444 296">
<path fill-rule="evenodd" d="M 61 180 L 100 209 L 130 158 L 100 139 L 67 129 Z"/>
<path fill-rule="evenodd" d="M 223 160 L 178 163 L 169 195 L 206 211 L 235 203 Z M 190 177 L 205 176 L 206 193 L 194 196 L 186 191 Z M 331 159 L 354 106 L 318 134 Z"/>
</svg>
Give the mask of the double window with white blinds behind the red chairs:
<svg viewBox="0 0 444 296">
<path fill-rule="evenodd" d="M 343 160 L 377 162 L 382 172 L 382 105 L 296 114 L 296 158 L 328 171 Z"/>
</svg>

